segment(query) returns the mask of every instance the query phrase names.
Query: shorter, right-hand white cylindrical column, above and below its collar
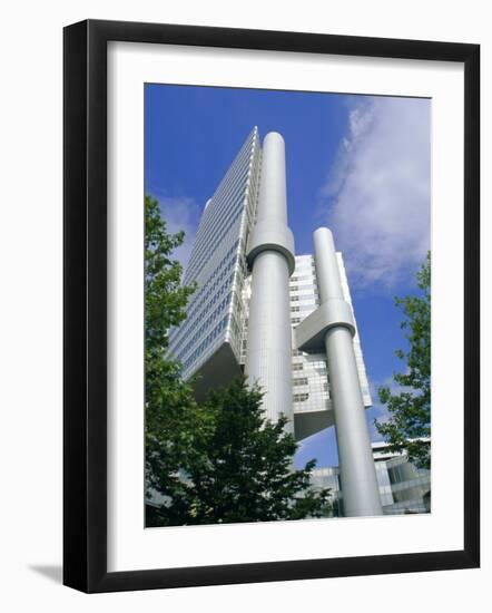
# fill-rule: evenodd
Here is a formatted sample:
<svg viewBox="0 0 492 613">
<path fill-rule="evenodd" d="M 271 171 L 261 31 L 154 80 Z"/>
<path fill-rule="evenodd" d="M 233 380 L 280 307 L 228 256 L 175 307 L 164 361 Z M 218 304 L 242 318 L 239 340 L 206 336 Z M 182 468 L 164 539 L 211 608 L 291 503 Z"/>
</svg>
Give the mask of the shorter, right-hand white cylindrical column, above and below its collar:
<svg viewBox="0 0 492 613">
<path fill-rule="evenodd" d="M 335 246 L 328 228 L 316 230 L 314 245 L 322 303 L 343 300 Z M 331 325 L 325 334 L 325 348 L 344 514 L 348 517 L 382 515 L 352 330 L 343 322 Z"/>
</svg>

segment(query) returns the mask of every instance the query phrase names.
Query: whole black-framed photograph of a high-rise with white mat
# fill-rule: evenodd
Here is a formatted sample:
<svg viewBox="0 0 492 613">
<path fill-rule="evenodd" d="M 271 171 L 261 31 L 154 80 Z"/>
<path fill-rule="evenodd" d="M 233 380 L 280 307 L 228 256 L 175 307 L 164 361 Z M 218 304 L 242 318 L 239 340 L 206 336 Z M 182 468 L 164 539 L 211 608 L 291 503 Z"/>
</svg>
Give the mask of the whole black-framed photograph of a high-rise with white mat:
<svg viewBox="0 0 492 613">
<path fill-rule="evenodd" d="M 63 583 L 478 567 L 479 46 L 63 37 Z"/>
</svg>

